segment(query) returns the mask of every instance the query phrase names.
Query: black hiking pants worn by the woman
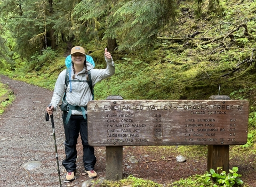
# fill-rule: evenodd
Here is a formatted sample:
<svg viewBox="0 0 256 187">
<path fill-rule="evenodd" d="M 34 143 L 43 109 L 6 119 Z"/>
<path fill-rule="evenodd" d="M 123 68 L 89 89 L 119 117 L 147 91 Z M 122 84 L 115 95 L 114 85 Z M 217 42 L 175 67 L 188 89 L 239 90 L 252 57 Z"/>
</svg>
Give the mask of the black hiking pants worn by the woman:
<svg viewBox="0 0 256 187">
<path fill-rule="evenodd" d="M 71 115 L 68 124 L 66 125 L 64 122 L 68 112 L 63 112 L 63 124 L 65 130 L 66 140 L 65 144 L 65 153 L 66 159 L 62 161 L 62 166 L 64 166 L 67 172 L 74 172 L 76 170 L 76 144 L 77 139 L 81 136 L 82 144 L 83 144 L 83 162 L 85 170 L 94 170 L 94 165 L 96 163 L 96 157 L 94 156 L 94 148 L 88 144 L 88 131 L 87 131 L 87 120 L 84 117 Z M 86 115 L 87 118 L 87 115 Z"/>
</svg>

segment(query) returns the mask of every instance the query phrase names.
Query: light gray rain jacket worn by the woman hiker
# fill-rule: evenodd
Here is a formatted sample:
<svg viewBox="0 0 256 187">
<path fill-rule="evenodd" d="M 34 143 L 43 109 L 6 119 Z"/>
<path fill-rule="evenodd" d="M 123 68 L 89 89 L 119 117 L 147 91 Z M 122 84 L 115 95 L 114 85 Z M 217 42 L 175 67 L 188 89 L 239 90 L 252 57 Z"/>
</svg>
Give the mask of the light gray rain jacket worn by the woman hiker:
<svg viewBox="0 0 256 187">
<path fill-rule="evenodd" d="M 107 77 L 110 77 L 115 74 L 115 66 L 113 59 L 110 59 L 109 61 L 105 58 L 107 62 L 107 68 L 106 69 L 92 69 L 93 66 L 91 63 L 86 62 L 87 70 L 91 70 L 91 77 L 92 77 L 92 85 L 94 86 L 96 83 L 98 83 L 100 80 L 105 79 Z M 74 72 L 71 71 L 71 77 L 74 75 Z M 54 111 L 57 110 L 58 104 L 60 100 L 62 99 L 63 94 L 66 91 L 66 100 L 71 105 L 77 105 L 79 107 L 85 107 L 89 101 L 92 100 L 92 93 L 90 90 L 90 87 L 88 83 L 86 82 L 71 82 L 71 90 L 70 91 L 70 83 L 68 84 L 68 87 L 66 87 L 65 84 L 65 76 L 66 76 L 66 69 L 63 70 L 58 79 L 55 83 L 53 96 L 51 103 L 54 107 Z M 85 73 L 85 67 L 81 72 L 78 72 L 77 75 L 75 75 L 75 79 L 77 80 L 86 80 L 86 73 Z M 86 111 L 87 113 L 87 111 Z M 81 111 L 72 110 L 72 115 L 82 115 Z"/>
</svg>

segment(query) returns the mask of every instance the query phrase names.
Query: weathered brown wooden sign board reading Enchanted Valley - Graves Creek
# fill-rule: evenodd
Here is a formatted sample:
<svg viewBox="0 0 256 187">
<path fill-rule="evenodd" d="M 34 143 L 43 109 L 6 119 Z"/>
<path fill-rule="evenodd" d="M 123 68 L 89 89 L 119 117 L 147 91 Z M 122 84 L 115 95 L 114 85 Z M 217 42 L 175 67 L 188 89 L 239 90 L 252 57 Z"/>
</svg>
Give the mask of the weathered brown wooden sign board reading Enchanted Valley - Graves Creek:
<svg viewBox="0 0 256 187">
<path fill-rule="evenodd" d="M 99 100 L 87 111 L 91 146 L 247 142 L 245 100 Z"/>
</svg>

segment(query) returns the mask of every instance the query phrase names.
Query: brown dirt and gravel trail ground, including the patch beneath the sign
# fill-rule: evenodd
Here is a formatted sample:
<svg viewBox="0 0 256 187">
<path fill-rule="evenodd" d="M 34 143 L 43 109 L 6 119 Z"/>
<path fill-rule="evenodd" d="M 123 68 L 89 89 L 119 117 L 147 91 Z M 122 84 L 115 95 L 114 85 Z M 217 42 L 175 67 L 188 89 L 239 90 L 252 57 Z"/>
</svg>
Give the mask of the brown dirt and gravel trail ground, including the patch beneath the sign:
<svg viewBox="0 0 256 187">
<path fill-rule="evenodd" d="M 50 121 L 45 121 L 45 108 L 49 104 L 52 92 L 44 88 L 11 80 L 0 75 L 0 81 L 7 84 L 16 99 L 0 116 L 0 186 L 59 186 L 54 141 Z M 55 136 L 59 155 L 61 181 L 65 171 L 61 161 L 65 158 L 63 142 L 65 135 L 60 110 L 54 113 Z M 174 153 L 167 147 L 123 147 L 123 177 L 134 175 L 161 184 L 170 184 L 180 178 L 194 174 L 203 174 L 207 170 L 207 155 L 197 159 L 187 158 L 186 162 L 176 162 Z M 206 149 L 206 148 L 204 148 Z M 62 186 L 82 186 L 89 180 L 83 173 L 82 145 L 77 144 L 77 179 Z M 205 151 L 205 150 L 204 150 Z M 206 151 L 207 152 L 207 151 Z M 105 177 L 105 147 L 95 147 L 98 178 Z M 135 158 L 134 163 L 131 157 Z M 164 161 L 166 160 L 166 161 Z M 22 164 L 30 161 L 42 162 L 42 166 L 33 170 L 24 169 Z M 230 168 L 238 166 L 242 180 L 249 186 L 256 186 L 254 177 L 255 157 L 243 156 L 230 159 Z"/>
</svg>

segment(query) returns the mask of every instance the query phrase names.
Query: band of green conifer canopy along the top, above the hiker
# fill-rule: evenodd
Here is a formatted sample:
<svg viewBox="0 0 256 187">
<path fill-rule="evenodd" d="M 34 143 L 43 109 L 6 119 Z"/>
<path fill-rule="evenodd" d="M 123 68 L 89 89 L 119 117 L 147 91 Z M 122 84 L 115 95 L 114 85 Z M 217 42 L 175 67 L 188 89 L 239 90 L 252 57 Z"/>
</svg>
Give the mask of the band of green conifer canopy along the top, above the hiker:
<svg viewBox="0 0 256 187">
<path fill-rule="evenodd" d="M 188 2 L 194 2 L 198 15 L 205 4 L 211 12 L 220 11 L 219 0 Z M 74 40 L 94 41 L 97 47 L 103 39 L 110 52 L 147 49 L 160 32 L 172 29 L 182 4 L 176 0 L 0 1 L 0 58 L 7 63 L 29 59 L 47 47 L 55 50 Z"/>
</svg>

